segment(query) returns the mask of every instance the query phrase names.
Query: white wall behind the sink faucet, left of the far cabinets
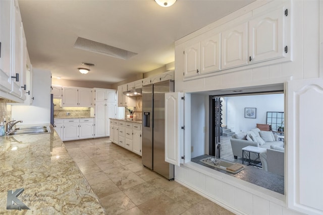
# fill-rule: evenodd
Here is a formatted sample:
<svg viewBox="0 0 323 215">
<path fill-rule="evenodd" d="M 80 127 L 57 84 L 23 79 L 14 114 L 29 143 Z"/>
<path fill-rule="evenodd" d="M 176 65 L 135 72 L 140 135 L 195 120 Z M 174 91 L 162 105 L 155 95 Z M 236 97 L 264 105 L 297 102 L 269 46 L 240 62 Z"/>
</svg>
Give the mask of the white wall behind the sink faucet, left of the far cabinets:
<svg viewBox="0 0 323 215">
<path fill-rule="evenodd" d="M 49 70 L 33 68 L 32 105 L 12 105 L 12 118 L 22 120 L 22 124 L 50 123 L 50 86 Z M 28 113 L 28 114 L 26 114 Z"/>
</svg>

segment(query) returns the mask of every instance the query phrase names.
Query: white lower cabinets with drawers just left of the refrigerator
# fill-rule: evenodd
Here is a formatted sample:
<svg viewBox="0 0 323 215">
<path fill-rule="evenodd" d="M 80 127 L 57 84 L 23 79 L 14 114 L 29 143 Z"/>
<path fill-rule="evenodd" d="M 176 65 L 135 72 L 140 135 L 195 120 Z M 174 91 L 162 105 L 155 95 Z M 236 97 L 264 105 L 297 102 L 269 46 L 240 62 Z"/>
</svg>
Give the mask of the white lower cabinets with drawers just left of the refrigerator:
<svg viewBox="0 0 323 215">
<path fill-rule="evenodd" d="M 111 119 L 110 129 L 114 134 L 110 140 L 141 156 L 141 124 L 132 121 Z"/>
</svg>

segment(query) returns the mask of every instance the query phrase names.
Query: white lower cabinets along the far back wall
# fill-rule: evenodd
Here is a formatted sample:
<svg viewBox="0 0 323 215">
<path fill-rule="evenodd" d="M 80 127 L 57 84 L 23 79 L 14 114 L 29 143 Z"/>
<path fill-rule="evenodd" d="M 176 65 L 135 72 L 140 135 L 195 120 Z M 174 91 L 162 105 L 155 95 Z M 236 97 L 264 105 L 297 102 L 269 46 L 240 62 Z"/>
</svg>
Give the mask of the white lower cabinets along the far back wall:
<svg viewBox="0 0 323 215">
<path fill-rule="evenodd" d="M 54 124 L 63 141 L 93 138 L 93 118 L 55 119 Z"/>
</svg>

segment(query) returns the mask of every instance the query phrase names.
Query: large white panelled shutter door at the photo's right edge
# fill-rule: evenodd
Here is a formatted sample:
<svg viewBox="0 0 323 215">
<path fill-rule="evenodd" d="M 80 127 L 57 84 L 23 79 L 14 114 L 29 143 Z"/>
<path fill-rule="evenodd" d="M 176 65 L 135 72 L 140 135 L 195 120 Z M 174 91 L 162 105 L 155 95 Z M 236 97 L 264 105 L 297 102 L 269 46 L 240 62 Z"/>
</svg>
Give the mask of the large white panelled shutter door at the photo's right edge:
<svg viewBox="0 0 323 215">
<path fill-rule="evenodd" d="M 323 214 L 322 107 L 323 79 L 287 82 L 287 203 L 305 214 Z"/>
</svg>

